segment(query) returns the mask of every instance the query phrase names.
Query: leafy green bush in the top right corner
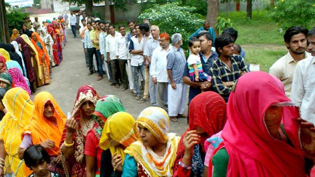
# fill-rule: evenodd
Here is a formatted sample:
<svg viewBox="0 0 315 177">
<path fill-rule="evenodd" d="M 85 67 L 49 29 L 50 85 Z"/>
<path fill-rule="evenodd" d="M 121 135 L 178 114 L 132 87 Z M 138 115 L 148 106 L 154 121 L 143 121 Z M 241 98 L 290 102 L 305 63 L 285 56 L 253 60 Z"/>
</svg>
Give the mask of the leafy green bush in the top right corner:
<svg viewBox="0 0 315 177">
<path fill-rule="evenodd" d="M 290 26 L 310 27 L 315 22 L 315 3 L 313 0 L 276 0 L 269 7 L 270 17 L 284 30 Z"/>
</svg>

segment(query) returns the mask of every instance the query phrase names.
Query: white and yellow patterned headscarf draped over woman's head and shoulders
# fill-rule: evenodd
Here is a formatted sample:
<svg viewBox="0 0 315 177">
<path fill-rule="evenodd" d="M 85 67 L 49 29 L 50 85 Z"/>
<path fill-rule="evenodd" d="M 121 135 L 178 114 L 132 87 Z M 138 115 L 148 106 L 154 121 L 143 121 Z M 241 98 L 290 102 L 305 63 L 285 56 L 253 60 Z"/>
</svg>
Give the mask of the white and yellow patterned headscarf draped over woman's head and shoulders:
<svg viewBox="0 0 315 177">
<path fill-rule="evenodd" d="M 130 144 L 124 152 L 133 156 L 150 176 L 172 176 L 179 137 L 174 133 L 168 133 L 167 112 L 160 107 L 147 107 L 140 112 L 136 120 L 136 127 L 138 124 L 147 128 L 159 142 L 166 143 L 165 155 L 158 156 L 151 147 L 144 146 L 140 141 Z M 135 134 L 139 137 L 137 128 Z"/>
</svg>

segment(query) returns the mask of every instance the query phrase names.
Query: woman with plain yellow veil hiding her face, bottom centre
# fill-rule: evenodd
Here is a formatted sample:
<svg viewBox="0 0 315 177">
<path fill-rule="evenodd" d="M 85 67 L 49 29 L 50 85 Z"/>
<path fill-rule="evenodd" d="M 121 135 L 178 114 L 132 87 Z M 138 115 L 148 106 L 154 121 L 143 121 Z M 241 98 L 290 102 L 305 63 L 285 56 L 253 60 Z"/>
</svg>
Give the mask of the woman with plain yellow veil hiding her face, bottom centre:
<svg viewBox="0 0 315 177">
<path fill-rule="evenodd" d="M 106 173 L 111 174 L 111 176 L 121 175 L 122 164 L 125 158 L 123 150 L 137 140 L 135 121 L 129 113 L 116 112 L 106 120 L 99 140 L 99 146 L 103 150 L 109 148 L 112 159 L 104 159 L 104 162 L 106 165 L 112 165 L 114 169 L 114 171 L 111 171 L 109 170 L 111 167 L 106 166 Z"/>
</svg>

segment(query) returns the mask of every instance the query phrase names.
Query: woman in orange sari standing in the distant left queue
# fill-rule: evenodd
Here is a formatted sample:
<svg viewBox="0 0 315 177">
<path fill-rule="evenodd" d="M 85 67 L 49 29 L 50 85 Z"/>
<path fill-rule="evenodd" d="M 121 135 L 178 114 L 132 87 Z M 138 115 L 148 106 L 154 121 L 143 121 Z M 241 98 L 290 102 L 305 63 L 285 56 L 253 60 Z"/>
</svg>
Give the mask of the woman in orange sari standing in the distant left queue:
<svg viewBox="0 0 315 177">
<path fill-rule="evenodd" d="M 49 76 L 49 55 L 47 53 L 47 49 L 45 44 L 40 39 L 40 36 L 37 32 L 33 32 L 31 34 L 31 43 L 35 46 L 38 59 L 40 63 L 41 73 L 43 75 L 43 84 L 48 84 L 50 81 Z"/>
</svg>

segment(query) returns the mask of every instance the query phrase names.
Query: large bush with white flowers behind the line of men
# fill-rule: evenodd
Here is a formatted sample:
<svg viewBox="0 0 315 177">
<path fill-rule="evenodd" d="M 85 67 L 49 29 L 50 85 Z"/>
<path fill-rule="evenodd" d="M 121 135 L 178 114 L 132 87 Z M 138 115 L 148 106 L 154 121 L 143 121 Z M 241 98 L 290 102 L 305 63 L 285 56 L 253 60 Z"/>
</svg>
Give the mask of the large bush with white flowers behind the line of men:
<svg viewBox="0 0 315 177">
<path fill-rule="evenodd" d="M 149 19 L 152 24 L 158 25 L 161 32 L 169 35 L 180 33 L 183 38 L 183 48 L 187 49 L 189 35 L 199 26 L 202 26 L 202 16 L 192 13 L 196 8 L 190 6 L 179 6 L 178 2 L 163 5 L 154 4 L 152 8 L 144 10 L 139 20 Z"/>
</svg>

